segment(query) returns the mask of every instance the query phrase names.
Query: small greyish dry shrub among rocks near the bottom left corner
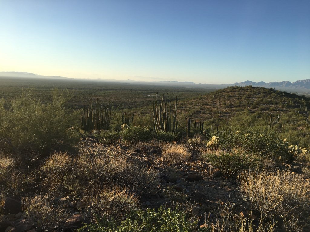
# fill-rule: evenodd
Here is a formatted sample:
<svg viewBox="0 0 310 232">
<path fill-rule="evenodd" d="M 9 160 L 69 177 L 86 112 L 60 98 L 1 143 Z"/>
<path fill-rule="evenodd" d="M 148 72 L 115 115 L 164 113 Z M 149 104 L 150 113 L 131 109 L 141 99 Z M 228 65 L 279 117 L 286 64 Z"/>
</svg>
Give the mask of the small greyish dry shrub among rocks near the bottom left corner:
<svg viewBox="0 0 310 232">
<path fill-rule="evenodd" d="M 23 208 L 28 220 L 42 231 L 62 229 L 70 217 L 70 213 L 60 203 L 53 204 L 48 195 L 24 198 Z"/>
</svg>

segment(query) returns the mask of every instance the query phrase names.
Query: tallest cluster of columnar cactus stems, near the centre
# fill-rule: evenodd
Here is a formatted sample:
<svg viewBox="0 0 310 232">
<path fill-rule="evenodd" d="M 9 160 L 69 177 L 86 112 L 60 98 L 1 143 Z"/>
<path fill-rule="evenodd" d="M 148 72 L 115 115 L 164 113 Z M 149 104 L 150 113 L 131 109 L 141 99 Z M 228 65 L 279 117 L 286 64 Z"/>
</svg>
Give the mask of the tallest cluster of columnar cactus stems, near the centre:
<svg viewBox="0 0 310 232">
<path fill-rule="evenodd" d="M 167 102 L 168 93 L 166 94 L 166 100 L 165 94 L 162 95 L 162 103 L 159 105 L 159 109 L 157 107 L 157 95 L 158 92 L 156 92 L 155 102 L 153 101 L 153 127 L 157 134 L 161 131 L 175 132 L 178 127 L 178 120 L 176 120 L 176 106 L 178 97 L 175 97 L 175 112 L 172 116 L 170 112 L 171 102 Z"/>
</svg>

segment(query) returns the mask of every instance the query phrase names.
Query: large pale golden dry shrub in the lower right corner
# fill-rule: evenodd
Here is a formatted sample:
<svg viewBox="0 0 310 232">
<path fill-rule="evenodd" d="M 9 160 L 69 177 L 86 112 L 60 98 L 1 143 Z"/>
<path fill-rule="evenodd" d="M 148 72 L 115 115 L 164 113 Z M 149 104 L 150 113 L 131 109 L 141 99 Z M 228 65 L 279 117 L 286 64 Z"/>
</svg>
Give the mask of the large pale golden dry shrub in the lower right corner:
<svg viewBox="0 0 310 232">
<path fill-rule="evenodd" d="M 296 224 L 310 203 L 309 183 L 290 170 L 243 174 L 240 190 L 263 217 L 281 218 L 286 226 Z"/>
</svg>

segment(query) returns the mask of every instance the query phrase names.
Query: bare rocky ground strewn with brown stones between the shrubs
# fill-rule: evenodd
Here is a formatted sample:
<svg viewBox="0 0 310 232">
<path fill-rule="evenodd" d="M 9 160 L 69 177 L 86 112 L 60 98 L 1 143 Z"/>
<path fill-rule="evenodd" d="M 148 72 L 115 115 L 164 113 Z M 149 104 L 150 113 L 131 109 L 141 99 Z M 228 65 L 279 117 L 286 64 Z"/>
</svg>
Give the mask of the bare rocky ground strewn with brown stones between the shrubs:
<svg viewBox="0 0 310 232">
<path fill-rule="evenodd" d="M 162 205 L 190 208 L 193 216 L 200 218 L 198 227 L 203 226 L 207 217 L 211 222 L 216 221 L 219 206 L 227 203 L 234 208 L 234 213 L 242 217 L 256 217 L 255 213 L 249 215 L 249 207 L 240 195 L 237 179 L 222 178 L 212 165 L 199 158 L 197 152 L 192 153 L 189 161 L 172 165 L 162 159 L 161 147 L 157 142 L 104 146 L 93 137 L 81 140 L 78 146 L 94 153 L 110 151 L 126 154 L 128 159 L 138 163 L 141 169 L 157 170 L 156 193 L 136 193 L 141 208 L 158 208 Z M 298 171 L 298 166 L 296 170 Z M 40 186 L 33 187 L 33 196 L 36 191 L 40 191 Z M 3 208 L 8 216 L 0 221 L 0 232 L 39 232 L 22 212 L 22 195 L 21 193 L 20 196 L 6 198 Z M 53 194 L 51 201 L 54 205 L 63 205 L 64 211 L 70 214 L 62 231 L 72 231 L 82 226 L 82 222 L 85 221 L 83 214 L 87 207 L 91 207 L 70 195 Z"/>
</svg>

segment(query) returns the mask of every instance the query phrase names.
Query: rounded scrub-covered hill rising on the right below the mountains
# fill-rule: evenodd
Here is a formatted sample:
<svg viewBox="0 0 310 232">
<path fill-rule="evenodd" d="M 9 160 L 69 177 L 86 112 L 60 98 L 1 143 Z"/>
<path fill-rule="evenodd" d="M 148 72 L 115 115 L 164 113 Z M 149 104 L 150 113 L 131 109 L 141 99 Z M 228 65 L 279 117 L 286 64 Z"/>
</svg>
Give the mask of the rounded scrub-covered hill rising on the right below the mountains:
<svg viewBox="0 0 310 232">
<path fill-rule="evenodd" d="M 280 114 L 298 111 L 299 114 L 307 114 L 310 107 L 309 98 L 297 96 L 294 93 L 274 90 L 263 87 L 227 87 L 208 93 L 179 104 L 186 117 L 198 120 L 218 118 L 228 120 L 237 112 L 248 110 L 249 113 L 275 113 Z"/>
</svg>

